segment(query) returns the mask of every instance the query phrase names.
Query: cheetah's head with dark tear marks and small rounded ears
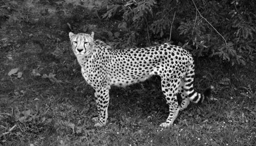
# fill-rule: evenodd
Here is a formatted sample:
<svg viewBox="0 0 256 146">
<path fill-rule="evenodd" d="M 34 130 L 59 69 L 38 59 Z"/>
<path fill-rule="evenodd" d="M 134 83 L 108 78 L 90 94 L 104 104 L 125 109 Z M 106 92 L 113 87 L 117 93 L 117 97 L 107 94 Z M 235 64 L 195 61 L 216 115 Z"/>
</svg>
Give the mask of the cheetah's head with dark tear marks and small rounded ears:
<svg viewBox="0 0 256 146">
<path fill-rule="evenodd" d="M 88 55 L 93 51 L 93 36 L 92 34 L 73 34 L 73 32 L 69 33 L 70 41 L 72 44 L 72 50 L 77 55 Z"/>
</svg>

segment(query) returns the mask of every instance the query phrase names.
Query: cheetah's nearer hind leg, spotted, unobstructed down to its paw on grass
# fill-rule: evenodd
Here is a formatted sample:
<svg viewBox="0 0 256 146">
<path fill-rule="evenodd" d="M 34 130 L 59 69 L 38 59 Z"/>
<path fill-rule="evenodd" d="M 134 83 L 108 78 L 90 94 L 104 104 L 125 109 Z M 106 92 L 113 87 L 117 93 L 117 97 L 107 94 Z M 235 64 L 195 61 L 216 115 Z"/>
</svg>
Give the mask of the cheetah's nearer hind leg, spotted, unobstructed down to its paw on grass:
<svg viewBox="0 0 256 146">
<path fill-rule="evenodd" d="M 175 81 L 177 83 L 175 83 Z M 170 83 L 175 83 L 171 85 Z M 176 117 L 178 116 L 180 106 L 177 101 L 177 86 L 179 85 L 179 81 L 171 80 L 170 83 L 166 83 L 166 80 L 162 78 L 162 91 L 166 97 L 166 103 L 169 105 L 169 116 L 165 123 L 160 124 L 161 127 L 169 127 L 173 124 Z"/>
</svg>

